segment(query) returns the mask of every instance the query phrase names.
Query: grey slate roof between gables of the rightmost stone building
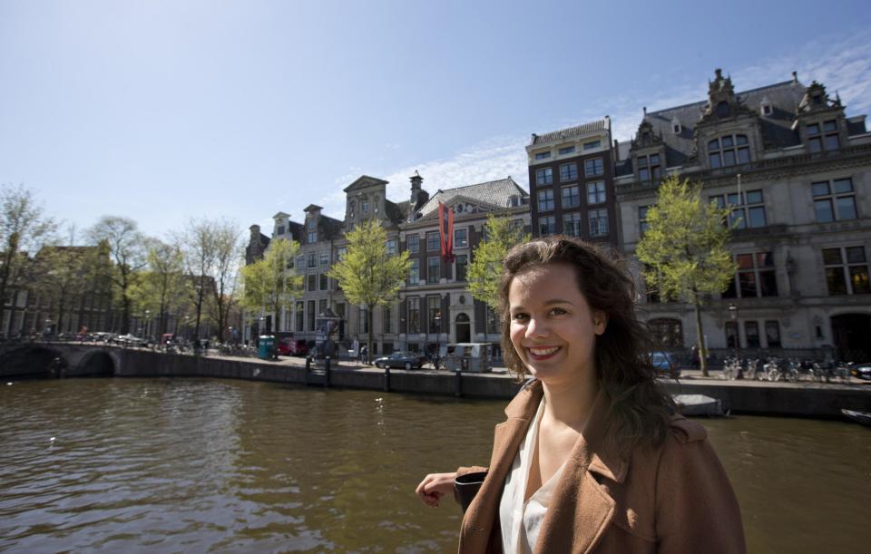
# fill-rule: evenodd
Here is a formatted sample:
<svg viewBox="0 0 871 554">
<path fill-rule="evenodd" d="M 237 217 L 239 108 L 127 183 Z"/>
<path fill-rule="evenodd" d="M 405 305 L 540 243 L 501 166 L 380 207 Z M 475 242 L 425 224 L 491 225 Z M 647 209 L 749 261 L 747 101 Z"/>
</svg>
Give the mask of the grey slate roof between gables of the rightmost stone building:
<svg viewBox="0 0 871 554">
<path fill-rule="evenodd" d="M 759 118 L 762 137 L 768 148 L 784 148 L 799 143 L 798 133 L 793 131 L 792 123 L 796 119 L 798 102 L 801 102 L 806 90 L 805 85 L 789 80 L 737 92 L 735 96 L 739 102 L 756 113 L 760 113 L 763 100 L 770 102 L 771 114 Z M 708 101 L 702 100 L 657 112 L 648 112 L 645 116 L 653 126 L 653 133 L 661 136 L 662 141 L 665 142 L 666 167 L 685 165 L 695 158 L 696 145 L 692 134 L 707 105 Z M 680 122 L 680 134 L 676 135 L 672 131 L 672 121 Z M 621 160 L 616 164 L 617 175 L 632 172 L 631 159 L 629 159 L 630 144 L 631 141 L 622 141 L 618 145 Z"/>
</svg>

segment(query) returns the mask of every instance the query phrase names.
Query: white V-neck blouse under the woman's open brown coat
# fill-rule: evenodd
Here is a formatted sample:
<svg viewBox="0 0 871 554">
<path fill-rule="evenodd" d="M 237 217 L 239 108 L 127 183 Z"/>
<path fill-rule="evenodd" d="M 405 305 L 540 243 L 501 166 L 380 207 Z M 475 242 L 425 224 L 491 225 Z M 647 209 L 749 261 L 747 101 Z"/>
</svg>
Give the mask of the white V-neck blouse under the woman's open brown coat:
<svg viewBox="0 0 871 554">
<path fill-rule="evenodd" d="M 514 458 L 511 471 L 505 478 L 502 500 L 499 501 L 499 521 L 502 525 L 502 545 L 504 552 L 531 553 L 538 539 L 538 531 L 542 527 L 544 514 L 551 504 L 553 489 L 563 473 L 565 462 L 553 476 L 535 491 L 529 500 L 524 502 L 526 482 L 529 480 L 529 466 L 533 462 L 533 452 L 538 437 L 538 427 L 544 413 L 544 399 L 538 404 L 533 422 L 526 430 L 524 442 Z"/>
</svg>

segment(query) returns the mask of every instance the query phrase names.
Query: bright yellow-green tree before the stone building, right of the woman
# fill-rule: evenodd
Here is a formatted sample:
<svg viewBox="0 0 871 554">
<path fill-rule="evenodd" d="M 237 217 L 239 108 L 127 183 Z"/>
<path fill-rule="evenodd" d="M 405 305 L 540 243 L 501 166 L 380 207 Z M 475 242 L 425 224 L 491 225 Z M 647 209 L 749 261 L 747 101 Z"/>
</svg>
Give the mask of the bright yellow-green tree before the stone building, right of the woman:
<svg viewBox="0 0 871 554">
<path fill-rule="evenodd" d="M 727 244 L 729 209 L 701 199 L 701 185 L 672 175 L 662 181 L 656 206 L 647 211 L 648 228 L 635 255 L 648 286 L 666 298 L 692 304 L 702 374 L 708 375 L 708 345 L 701 326 L 706 296 L 721 293 L 737 269 Z"/>
</svg>

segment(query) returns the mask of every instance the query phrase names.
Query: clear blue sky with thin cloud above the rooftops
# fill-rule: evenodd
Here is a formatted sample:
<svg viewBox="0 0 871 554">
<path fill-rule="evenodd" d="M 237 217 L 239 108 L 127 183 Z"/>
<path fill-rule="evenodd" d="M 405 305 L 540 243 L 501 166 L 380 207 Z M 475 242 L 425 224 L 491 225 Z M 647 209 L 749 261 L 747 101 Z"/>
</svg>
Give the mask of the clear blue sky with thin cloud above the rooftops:
<svg viewBox="0 0 871 554">
<path fill-rule="evenodd" d="M 80 231 L 240 232 L 361 174 L 406 199 L 512 175 L 524 145 L 609 114 L 817 79 L 871 112 L 867 2 L 0 0 L 0 183 Z M 871 127 L 871 124 L 869 124 Z"/>
</svg>

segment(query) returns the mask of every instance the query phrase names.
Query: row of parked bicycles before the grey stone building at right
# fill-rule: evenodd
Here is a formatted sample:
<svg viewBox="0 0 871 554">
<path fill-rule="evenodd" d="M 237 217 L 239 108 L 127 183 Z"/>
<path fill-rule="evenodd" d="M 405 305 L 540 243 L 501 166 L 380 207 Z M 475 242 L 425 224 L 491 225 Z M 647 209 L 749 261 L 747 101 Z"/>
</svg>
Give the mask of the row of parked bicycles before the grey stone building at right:
<svg viewBox="0 0 871 554">
<path fill-rule="evenodd" d="M 817 362 L 797 358 L 768 358 L 760 365 L 759 358 L 724 360 L 723 377 L 729 381 L 810 381 L 814 383 L 849 383 L 852 362 Z"/>
</svg>

